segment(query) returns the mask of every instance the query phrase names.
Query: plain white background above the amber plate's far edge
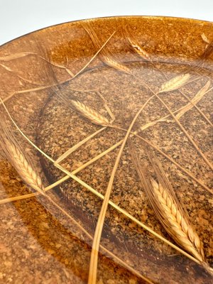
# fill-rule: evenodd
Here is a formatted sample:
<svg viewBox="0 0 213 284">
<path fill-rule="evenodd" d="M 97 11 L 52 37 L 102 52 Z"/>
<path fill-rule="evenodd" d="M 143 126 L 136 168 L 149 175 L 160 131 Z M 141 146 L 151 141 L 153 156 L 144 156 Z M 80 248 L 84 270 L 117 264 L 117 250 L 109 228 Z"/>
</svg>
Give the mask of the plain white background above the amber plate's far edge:
<svg viewBox="0 0 213 284">
<path fill-rule="evenodd" d="M 119 15 L 213 21 L 213 0 L 0 0 L 0 45 L 56 23 Z"/>
</svg>

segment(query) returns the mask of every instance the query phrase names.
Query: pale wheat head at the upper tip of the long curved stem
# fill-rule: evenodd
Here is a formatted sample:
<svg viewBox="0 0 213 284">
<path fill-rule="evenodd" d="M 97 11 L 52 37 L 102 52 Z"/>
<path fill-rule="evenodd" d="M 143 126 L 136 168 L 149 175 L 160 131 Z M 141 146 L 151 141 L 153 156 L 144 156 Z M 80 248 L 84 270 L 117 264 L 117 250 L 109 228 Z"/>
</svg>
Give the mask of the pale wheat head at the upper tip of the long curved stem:
<svg viewBox="0 0 213 284">
<path fill-rule="evenodd" d="M 189 79 L 190 79 L 190 74 L 188 73 L 173 77 L 173 79 L 161 85 L 158 93 L 170 92 L 170 91 L 174 91 L 175 89 L 179 89 L 186 82 L 188 82 Z"/>
</svg>

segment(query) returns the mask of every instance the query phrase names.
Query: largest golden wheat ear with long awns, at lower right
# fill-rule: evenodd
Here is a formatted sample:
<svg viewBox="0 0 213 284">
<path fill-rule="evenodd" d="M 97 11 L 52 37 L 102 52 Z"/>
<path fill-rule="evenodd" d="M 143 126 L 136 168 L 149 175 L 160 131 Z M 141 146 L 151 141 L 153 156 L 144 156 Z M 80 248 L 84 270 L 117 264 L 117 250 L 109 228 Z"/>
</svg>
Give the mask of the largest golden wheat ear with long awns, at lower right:
<svg viewBox="0 0 213 284">
<path fill-rule="evenodd" d="M 133 148 L 133 144 L 131 144 Z M 198 261 L 205 261 L 202 242 L 195 228 L 190 223 L 183 204 L 175 196 L 170 181 L 165 175 L 159 161 L 148 151 L 158 182 L 145 174 L 138 157 L 133 151 L 133 163 L 136 165 L 139 178 L 143 184 L 146 195 L 153 207 L 156 217 L 164 226 L 165 230 L 183 249 L 191 253 Z"/>
</svg>

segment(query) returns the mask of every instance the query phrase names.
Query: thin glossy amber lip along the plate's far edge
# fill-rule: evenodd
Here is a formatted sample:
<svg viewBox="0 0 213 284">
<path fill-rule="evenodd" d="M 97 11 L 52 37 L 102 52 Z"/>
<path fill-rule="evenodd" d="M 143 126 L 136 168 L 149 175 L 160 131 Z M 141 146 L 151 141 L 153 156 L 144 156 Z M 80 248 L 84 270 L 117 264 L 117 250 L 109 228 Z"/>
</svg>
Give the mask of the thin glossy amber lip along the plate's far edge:
<svg viewBox="0 0 213 284">
<path fill-rule="evenodd" d="M 176 16 L 151 16 L 151 15 L 127 15 L 127 16 L 103 16 L 103 17 L 95 17 L 95 18 L 82 18 L 80 20 L 74 20 L 74 21 L 65 21 L 62 23 L 55 23 L 54 25 L 50 25 L 50 26 L 45 26 L 43 28 L 38 28 L 38 30 L 35 31 L 31 31 L 29 33 L 25 33 L 23 35 L 19 35 L 17 38 L 13 38 L 12 40 L 7 41 L 6 43 L 3 43 L 2 45 L 0 45 L 0 50 L 1 47 L 4 47 L 4 45 L 7 45 L 9 43 L 11 43 L 13 40 L 17 40 L 18 38 L 23 38 L 26 35 L 30 35 L 31 33 L 35 33 L 37 31 L 43 31 L 46 28 L 52 28 L 55 26 L 61 26 L 64 25 L 65 23 L 77 23 L 77 22 L 81 22 L 81 21 L 92 21 L 92 20 L 104 20 L 104 19 L 109 19 L 109 18 L 165 18 L 165 19 L 171 19 L 171 20 L 179 20 L 179 21 L 193 21 L 195 23 L 212 23 L 213 21 L 206 21 L 206 20 L 200 20 L 200 19 L 196 19 L 196 18 L 185 18 L 185 17 L 176 17 Z"/>
</svg>

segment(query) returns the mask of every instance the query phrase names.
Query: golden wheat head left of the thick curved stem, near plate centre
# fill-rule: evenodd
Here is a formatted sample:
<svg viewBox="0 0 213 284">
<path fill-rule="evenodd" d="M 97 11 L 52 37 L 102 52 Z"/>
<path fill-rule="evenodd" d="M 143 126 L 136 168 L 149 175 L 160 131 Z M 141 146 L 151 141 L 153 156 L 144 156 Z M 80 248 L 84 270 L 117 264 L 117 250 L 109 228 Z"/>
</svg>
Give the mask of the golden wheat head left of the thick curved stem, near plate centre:
<svg viewBox="0 0 213 284">
<path fill-rule="evenodd" d="M 102 126 L 108 126 L 110 124 L 109 120 L 106 117 L 102 116 L 102 114 L 99 114 L 97 111 L 94 111 L 94 109 L 87 107 L 82 102 L 75 99 L 72 99 L 71 102 L 77 112 L 82 114 L 82 116 L 86 117 L 87 119 L 91 120 L 94 124 Z"/>
</svg>

